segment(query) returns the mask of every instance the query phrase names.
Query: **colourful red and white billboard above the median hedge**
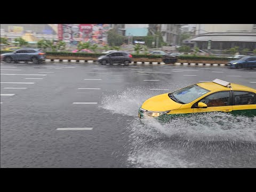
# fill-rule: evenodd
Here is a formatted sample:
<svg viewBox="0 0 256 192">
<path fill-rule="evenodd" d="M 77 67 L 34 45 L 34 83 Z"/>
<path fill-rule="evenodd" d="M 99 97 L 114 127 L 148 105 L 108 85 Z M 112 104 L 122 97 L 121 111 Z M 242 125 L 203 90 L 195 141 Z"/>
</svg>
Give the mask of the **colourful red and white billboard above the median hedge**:
<svg viewBox="0 0 256 192">
<path fill-rule="evenodd" d="M 59 40 L 66 43 L 91 42 L 105 45 L 109 24 L 58 24 Z"/>
</svg>

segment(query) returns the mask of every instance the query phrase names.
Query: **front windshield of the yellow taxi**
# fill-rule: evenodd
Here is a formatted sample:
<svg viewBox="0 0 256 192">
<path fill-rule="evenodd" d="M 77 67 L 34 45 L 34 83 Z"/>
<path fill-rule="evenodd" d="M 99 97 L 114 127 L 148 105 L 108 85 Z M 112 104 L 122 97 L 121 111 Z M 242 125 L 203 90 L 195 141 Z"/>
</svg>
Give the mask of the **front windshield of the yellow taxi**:
<svg viewBox="0 0 256 192">
<path fill-rule="evenodd" d="M 208 92 L 210 91 L 195 84 L 173 92 L 172 96 L 182 103 L 190 103 L 191 101 L 194 101 L 195 99 L 201 97 L 202 95 Z"/>
</svg>

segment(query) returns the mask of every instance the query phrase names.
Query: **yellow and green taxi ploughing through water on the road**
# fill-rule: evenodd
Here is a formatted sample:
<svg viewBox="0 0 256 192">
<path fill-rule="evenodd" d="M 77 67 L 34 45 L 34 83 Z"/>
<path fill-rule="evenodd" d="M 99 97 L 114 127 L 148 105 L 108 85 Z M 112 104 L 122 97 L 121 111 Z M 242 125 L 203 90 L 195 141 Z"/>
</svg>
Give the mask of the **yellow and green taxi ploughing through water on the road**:
<svg viewBox="0 0 256 192">
<path fill-rule="evenodd" d="M 139 118 L 213 111 L 256 116 L 256 90 L 220 79 L 197 83 L 149 98 L 140 107 Z"/>
</svg>

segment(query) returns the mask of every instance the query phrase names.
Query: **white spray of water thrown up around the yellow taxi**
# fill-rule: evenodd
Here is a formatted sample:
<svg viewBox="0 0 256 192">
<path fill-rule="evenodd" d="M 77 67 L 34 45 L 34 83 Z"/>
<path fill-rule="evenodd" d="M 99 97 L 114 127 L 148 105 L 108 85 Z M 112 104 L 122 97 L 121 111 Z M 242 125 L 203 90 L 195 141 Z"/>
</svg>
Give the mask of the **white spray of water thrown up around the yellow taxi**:
<svg viewBox="0 0 256 192">
<path fill-rule="evenodd" d="M 101 99 L 101 108 L 113 114 L 134 117 L 126 127 L 130 135 L 129 143 L 124 146 L 130 151 L 127 162 L 136 167 L 230 167 L 232 163 L 225 164 L 223 159 L 220 161 L 222 166 L 216 160 L 222 158 L 219 157 L 221 155 L 215 154 L 237 149 L 238 156 L 241 156 L 241 148 L 255 157 L 256 117 L 214 112 L 170 118 L 165 123 L 154 118 L 139 119 L 137 115 L 141 104 L 154 95 L 166 92 L 150 90 L 155 88 L 127 88 L 115 94 L 104 94 Z M 171 92 L 178 87 L 169 89 Z M 252 143 L 252 146 L 241 144 L 246 142 Z M 233 155 L 227 158 L 233 158 Z M 200 158 L 191 160 L 188 156 Z"/>
</svg>

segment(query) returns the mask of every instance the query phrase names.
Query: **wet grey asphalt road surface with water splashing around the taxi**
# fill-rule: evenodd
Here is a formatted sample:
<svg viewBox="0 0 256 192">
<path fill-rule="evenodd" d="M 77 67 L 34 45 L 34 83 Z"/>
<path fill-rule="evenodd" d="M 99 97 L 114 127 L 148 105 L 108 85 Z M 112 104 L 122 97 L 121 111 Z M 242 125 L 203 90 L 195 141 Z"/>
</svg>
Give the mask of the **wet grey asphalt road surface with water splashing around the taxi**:
<svg viewBox="0 0 256 192">
<path fill-rule="evenodd" d="M 1 167 L 256 167 L 255 118 L 217 139 L 139 131 L 143 101 L 215 78 L 256 89 L 255 69 L 1 63 Z"/>
</svg>

